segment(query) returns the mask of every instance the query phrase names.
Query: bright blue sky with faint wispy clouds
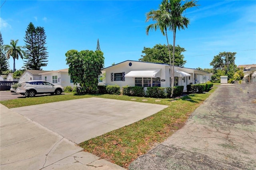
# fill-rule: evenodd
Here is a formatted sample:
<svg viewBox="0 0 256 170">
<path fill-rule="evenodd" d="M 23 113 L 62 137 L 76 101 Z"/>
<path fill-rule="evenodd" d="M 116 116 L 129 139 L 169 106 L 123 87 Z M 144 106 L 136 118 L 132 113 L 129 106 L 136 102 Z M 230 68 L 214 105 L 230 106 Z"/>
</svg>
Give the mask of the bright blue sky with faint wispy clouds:
<svg viewBox="0 0 256 170">
<path fill-rule="evenodd" d="M 24 45 L 30 22 L 44 27 L 48 65 L 43 70 L 68 68 L 65 53 L 70 49 L 96 50 L 97 39 L 104 53 L 105 67 L 126 60 L 138 61 L 144 47 L 167 44 L 160 31 L 146 35 L 146 12 L 156 10 L 160 0 L 1 0 L 0 29 L 4 44 L 19 39 Z M 188 68 L 212 68 L 219 52 L 236 52 L 237 65 L 256 64 L 256 1 L 200 0 L 198 8 L 186 11 L 188 29 L 178 31 L 176 45 Z M 172 32 L 169 31 L 172 44 Z M 10 59 L 10 68 L 13 60 Z M 16 61 L 16 69 L 23 66 Z"/>
</svg>

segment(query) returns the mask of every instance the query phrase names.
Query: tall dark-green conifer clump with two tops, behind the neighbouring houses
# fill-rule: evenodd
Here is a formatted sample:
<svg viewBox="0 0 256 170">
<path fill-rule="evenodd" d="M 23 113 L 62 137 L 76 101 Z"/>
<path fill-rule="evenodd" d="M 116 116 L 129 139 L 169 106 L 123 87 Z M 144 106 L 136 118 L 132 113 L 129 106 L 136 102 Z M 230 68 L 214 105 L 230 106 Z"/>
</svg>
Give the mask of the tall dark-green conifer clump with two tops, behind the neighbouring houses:
<svg viewBox="0 0 256 170">
<path fill-rule="evenodd" d="M 35 27 L 32 22 L 28 24 L 24 37 L 24 66 L 30 70 L 42 70 L 47 66 L 48 52 L 46 45 L 46 35 L 44 27 Z"/>
</svg>

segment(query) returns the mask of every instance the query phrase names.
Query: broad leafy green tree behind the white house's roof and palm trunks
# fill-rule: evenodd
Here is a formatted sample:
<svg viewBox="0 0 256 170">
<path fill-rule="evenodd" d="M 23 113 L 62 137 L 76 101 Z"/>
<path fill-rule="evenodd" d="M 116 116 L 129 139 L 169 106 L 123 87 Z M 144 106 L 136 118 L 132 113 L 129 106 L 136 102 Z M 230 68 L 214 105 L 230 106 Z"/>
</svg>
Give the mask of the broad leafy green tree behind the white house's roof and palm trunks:
<svg viewBox="0 0 256 170">
<path fill-rule="evenodd" d="M 172 45 L 169 46 L 170 48 L 172 48 Z M 184 55 L 181 54 L 184 51 L 186 50 L 179 45 L 175 48 L 174 65 L 184 66 L 186 60 L 184 60 Z M 165 44 L 156 44 L 153 48 L 144 47 L 142 53 L 144 53 L 145 55 L 141 55 L 142 58 L 139 59 L 139 61 L 170 64 L 168 47 Z"/>
</svg>

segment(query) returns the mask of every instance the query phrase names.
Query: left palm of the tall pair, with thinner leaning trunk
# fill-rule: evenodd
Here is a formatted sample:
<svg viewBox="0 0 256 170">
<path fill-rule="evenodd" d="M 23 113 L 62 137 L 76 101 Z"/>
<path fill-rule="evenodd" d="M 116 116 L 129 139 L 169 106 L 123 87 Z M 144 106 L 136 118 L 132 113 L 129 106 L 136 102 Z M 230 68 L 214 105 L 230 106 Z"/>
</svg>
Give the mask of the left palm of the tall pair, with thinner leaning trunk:
<svg viewBox="0 0 256 170">
<path fill-rule="evenodd" d="M 159 6 L 158 10 L 151 10 L 150 12 L 146 13 L 146 22 L 152 20 L 156 23 L 152 23 L 146 27 L 146 35 L 148 35 L 148 31 L 151 29 L 154 29 L 155 31 L 157 29 L 160 29 L 161 33 L 166 36 L 167 40 L 167 47 L 169 52 L 169 60 L 170 64 L 171 62 L 171 52 L 169 47 L 169 41 L 168 41 L 168 35 L 167 35 L 167 29 L 170 27 L 170 13 L 168 12 L 168 0 L 163 0 L 162 3 Z"/>
</svg>

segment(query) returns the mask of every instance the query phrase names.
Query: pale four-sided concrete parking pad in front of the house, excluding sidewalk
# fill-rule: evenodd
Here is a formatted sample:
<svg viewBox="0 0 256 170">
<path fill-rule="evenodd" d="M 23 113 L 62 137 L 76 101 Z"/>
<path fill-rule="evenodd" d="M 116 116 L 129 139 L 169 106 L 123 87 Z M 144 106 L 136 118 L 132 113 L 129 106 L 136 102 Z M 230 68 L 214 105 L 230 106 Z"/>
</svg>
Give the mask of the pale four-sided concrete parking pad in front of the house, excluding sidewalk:
<svg viewBox="0 0 256 170">
<path fill-rule="evenodd" d="M 84 98 L 12 110 L 79 144 L 144 119 L 168 106 L 103 98 Z"/>
</svg>

